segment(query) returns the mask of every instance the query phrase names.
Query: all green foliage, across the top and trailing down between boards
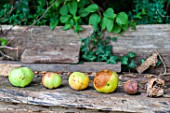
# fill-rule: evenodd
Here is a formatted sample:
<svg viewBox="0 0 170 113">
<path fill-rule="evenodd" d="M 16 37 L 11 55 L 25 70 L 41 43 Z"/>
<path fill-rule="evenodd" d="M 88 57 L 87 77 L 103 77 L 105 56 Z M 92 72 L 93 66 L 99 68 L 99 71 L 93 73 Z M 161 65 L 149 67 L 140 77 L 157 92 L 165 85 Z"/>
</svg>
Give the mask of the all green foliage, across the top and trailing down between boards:
<svg viewBox="0 0 170 113">
<path fill-rule="evenodd" d="M 115 37 L 103 37 L 103 32 L 121 33 L 128 26 L 137 24 L 170 23 L 170 0 L 1 0 L 0 24 L 48 25 L 50 29 L 63 26 L 63 30 L 82 31 L 81 25 L 92 25 L 92 36 L 82 39 L 81 61 L 97 61 L 115 64 L 121 62 L 123 70 L 134 69 L 136 54 L 124 56 L 112 54 L 110 41 Z M 93 3 L 95 2 L 95 3 Z M 166 9 L 165 9 L 166 7 Z M 170 11 L 169 11 L 170 12 Z M 1 46 L 7 44 L 5 38 Z M 141 60 L 142 62 L 144 61 Z M 158 65 L 160 63 L 158 62 Z"/>
</svg>

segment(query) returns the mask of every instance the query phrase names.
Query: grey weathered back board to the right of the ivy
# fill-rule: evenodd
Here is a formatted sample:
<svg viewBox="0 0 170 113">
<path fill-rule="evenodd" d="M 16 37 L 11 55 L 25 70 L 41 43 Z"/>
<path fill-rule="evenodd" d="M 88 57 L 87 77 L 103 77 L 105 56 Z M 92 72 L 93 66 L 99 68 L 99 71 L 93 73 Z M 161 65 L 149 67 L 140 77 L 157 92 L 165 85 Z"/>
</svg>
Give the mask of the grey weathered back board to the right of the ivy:
<svg viewBox="0 0 170 113">
<path fill-rule="evenodd" d="M 111 43 L 114 54 L 124 55 L 133 51 L 137 54 L 138 64 L 141 58 L 147 58 L 157 49 L 170 72 L 170 24 L 138 25 L 136 30 L 129 29 L 119 35 L 106 32 L 105 36 L 117 37 L 117 41 Z M 150 72 L 163 71 L 162 67 L 159 67 L 151 69 Z"/>
</svg>

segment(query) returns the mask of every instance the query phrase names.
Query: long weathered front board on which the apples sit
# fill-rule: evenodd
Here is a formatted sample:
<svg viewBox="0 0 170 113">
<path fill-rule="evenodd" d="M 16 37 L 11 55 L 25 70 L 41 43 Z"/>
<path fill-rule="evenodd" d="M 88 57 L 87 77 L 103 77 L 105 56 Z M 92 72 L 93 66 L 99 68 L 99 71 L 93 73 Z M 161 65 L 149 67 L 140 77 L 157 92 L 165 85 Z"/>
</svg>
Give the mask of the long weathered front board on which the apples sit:
<svg viewBox="0 0 170 113">
<path fill-rule="evenodd" d="M 65 107 L 70 109 L 99 110 L 103 112 L 169 113 L 170 98 L 149 98 L 145 91 L 139 95 L 127 95 L 119 85 L 111 94 L 98 93 L 92 82 L 84 91 L 74 91 L 68 85 L 68 76 L 62 76 L 63 83 L 58 89 L 48 90 L 41 85 L 41 77 L 36 76 L 26 88 L 16 88 L 7 78 L 0 77 L 0 101 L 27 106 Z M 167 89 L 169 94 L 170 90 Z M 17 106 L 17 105 L 16 105 Z"/>
</svg>

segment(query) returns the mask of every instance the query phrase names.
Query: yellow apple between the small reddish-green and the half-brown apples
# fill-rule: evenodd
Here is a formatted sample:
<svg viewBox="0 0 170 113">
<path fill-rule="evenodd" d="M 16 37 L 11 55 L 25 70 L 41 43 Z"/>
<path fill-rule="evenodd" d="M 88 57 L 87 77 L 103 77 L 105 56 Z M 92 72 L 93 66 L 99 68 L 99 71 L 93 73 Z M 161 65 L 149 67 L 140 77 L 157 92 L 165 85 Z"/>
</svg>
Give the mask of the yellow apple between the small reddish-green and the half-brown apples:
<svg viewBox="0 0 170 113">
<path fill-rule="evenodd" d="M 69 85 L 72 89 L 80 91 L 84 90 L 89 85 L 89 77 L 81 72 L 73 72 L 69 76 Z"/>
</svg>

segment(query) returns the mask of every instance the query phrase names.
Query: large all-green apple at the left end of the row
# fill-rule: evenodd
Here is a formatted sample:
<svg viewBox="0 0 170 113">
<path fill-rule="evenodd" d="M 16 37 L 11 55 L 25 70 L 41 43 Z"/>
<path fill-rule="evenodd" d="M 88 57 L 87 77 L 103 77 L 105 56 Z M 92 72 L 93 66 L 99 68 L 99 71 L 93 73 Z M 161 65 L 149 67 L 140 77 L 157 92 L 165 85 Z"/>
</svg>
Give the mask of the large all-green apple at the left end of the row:
<svg viewBox="0 0 170 113">
<path fill-rule="evenodd" d="M 34 78 L 33 71 L 28 67 L 19 67 L 10 71 L 8 80 L 16 87 L 28 86 Z"/>
</svg>

